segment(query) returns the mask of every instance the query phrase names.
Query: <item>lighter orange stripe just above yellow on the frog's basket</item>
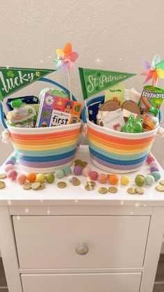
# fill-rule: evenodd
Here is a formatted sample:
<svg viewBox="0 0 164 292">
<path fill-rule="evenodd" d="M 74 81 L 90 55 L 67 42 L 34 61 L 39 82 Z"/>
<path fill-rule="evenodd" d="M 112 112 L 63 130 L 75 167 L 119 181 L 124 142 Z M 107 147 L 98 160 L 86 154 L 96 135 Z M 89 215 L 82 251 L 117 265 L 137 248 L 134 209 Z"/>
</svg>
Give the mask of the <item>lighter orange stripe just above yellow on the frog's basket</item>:
<svg viewBox="0 0 164 292">
<path fill-rule="evenodd" d="M 101 139 L 101 137 L 95 137 L 95 135 L 91 135 L 90 133 L 88 133 L 88 137 L 89 139 L 92 139 L 92 143 L 94 144 L 94 141 L 99 141 L 99 144 L 102 145 L 106 145 L 109 146 L 111 148 L 117 148 L 117 149 L 124 149 L 124 150 L 133 150 L 133 149 L 139 149 L 139 148 L 145 148 L 149 145 L 151 145 L 151 141 L 148 141 L 145 143 L 145 140 L 142 139 L 142 143 L 138 143 L 138 144 L 131 144 L 131 141 L 136 141 L 136 140 L 129 140 L 129 144 L 120 144 L 120 143 L 116 143 L 113 141 L 106 141 L 105 139 Z M 151 139 L 152 140 L 152 139 Z"/>
</svg>

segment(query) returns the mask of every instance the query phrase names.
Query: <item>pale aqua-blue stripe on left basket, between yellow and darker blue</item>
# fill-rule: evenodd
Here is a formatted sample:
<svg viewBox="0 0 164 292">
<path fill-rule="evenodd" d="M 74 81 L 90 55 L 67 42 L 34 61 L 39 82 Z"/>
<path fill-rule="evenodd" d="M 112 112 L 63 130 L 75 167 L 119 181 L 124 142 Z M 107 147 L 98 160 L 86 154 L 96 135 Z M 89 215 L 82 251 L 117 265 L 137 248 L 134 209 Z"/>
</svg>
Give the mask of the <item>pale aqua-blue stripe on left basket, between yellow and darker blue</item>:
<svg viewBox="0 0 164 292">
<path fill-rule="evenodd" d="M 31 156 L 33 154 L 39 157 L 39 156 L 59 155 L 59 154 L 67 153 L 69 151 L 73 151 L 75 148 L 76 148 L 76 144 L 74 144 L 73 146 L 63 147 L 63 148 L 55 149 L 55 150 L 47 150 L 47 151 L 35 151 L 35 150 L 32 150 L 32 151 L 15 150 L 15 151 L 18 152 L 19 155 Z"/>
</svg>

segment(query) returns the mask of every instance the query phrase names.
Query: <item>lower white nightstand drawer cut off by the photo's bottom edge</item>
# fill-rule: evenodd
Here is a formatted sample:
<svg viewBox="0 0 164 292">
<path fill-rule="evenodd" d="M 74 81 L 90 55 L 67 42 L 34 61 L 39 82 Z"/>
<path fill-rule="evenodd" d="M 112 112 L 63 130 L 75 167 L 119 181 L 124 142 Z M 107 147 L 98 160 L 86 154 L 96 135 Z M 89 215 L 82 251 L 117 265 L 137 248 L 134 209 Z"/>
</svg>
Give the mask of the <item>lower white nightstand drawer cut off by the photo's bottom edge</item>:
<svg viewBox="0 0 164 292">
<path fill-rule="evenodd" d="M 24 292 L 139 292 L 141 273 L 22 275 Z"/>
</svg>

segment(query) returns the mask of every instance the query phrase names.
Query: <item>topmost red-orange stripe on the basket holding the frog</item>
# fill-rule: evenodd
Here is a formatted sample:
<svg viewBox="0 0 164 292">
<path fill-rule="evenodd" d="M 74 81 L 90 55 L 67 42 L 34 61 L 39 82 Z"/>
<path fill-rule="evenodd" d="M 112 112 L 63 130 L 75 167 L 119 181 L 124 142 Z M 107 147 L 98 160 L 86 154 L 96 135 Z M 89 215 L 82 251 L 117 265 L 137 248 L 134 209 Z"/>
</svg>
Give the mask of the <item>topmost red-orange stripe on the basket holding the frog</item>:
<svg viewBox="0 0 164 292">
<path fill-rule="evenodd" d="M 106 141 L 113 141 L 115 142 L 116 144 L 125 144 L 125 145 L 129 145 L 129 144 L 142 144 L 142 142 L 146 143 L 146 142 L 149 142 L 149 141 L 152 141 L 155 137 L 154 136 L 151 136 L 151 137 L 147 137 L 147 138 L 144 138 L 144 139 L 123 139 L 123 138 L 119 138 L 119 137 L 113 137 L 113 136 L 110 136 L 110 135 L 107 135 L 107 134 L 103 134 L 101 132 L 98 132 L 96 130 L 93 130 L 92 128 L 88 127 L 88 135 L 94 135 L 94 137 L 101 137 L 101 139 L 105 139 Z"/>
</svg>

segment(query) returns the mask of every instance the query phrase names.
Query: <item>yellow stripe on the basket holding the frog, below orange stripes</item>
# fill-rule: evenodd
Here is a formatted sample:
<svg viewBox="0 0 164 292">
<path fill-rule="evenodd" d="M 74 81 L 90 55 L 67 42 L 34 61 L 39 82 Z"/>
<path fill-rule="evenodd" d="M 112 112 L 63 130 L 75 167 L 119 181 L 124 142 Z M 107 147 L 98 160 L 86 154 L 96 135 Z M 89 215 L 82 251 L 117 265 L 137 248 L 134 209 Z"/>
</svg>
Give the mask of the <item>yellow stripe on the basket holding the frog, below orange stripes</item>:
<svg viewBox="0 0 164 292">
<path fill-rule="evenodd" d="M 95 141 L 94 139 L 91 139 L 91 138 L 89 139 L 89 141 L 93 145 L 96 145 L 97 147 L 99 147 L 101 149 L 104 149 L 107 152 L 111 152 L 111 153 L 114 153 L 114 154 L 120 154 L 120 155 L 138 154 L 138 153 L 145 152 L 150 148 L 150 146 L 147 146 L 147 147 L 144 147 L 144 148 L 142 147 L 142 148 L 134 149 L 134 150 L 133 149 L 122 150 L 122 149 L 110 148 L 109 146 L 102 145 L 99 142 L 97 142 L 97 141 Z M 121 147 L 122 147 L 122 145 L 121 145 Z"/>
</svg>

